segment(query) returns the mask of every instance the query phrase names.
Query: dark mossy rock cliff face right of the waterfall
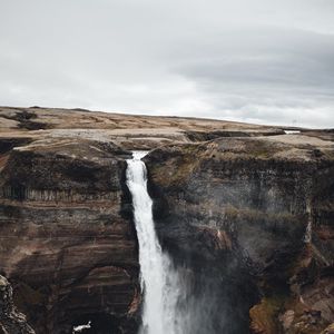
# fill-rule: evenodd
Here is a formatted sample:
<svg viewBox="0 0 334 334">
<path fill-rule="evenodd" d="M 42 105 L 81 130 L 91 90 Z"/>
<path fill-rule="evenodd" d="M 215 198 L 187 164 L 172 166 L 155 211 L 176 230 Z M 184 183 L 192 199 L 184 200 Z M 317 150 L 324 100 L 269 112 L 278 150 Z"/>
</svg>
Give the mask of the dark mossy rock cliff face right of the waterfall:
<svg viewBox="0 0 334 334">
<path fill-rule="evenodd" d="M 147 157 L 159 237 L 214 303 L 212 333 L 247 333 L 249 317 L 253 333 L 334 321 L 334 151 L 316 144 L 220 138 Z"/>
</svg>

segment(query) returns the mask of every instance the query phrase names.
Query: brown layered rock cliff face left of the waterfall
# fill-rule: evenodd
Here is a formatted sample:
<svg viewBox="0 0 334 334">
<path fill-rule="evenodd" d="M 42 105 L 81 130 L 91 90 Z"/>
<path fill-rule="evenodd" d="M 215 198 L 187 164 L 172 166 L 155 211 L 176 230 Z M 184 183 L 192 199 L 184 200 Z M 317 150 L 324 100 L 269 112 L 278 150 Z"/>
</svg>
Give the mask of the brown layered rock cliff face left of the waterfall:
<svg viewBox="0 0 334 334">
<path fill-rule="evenodd" d="M 1 273 L 37 333 L 71 333 L 88 321 L 94 333 L 135 332 L 138 261 L 124 189 L 127 154 L 112 144 L 59 139 L 2 156 Z"/>
</svg>

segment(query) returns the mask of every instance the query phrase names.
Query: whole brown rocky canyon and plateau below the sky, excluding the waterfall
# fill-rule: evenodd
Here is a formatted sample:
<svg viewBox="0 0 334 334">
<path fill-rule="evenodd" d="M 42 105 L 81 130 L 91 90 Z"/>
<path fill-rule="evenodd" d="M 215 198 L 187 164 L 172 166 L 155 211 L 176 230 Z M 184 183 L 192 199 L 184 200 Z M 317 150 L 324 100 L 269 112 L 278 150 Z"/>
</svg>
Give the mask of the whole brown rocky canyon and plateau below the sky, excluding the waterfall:
<svg viewBox="0 0 334 334">
<path fill-rule="evenodd" d="M 138 332 L 131 150 L 190 333 L 333 333 L 333 129 L 41 107 L 0 107 L 0 333 Z"/>
</svg>

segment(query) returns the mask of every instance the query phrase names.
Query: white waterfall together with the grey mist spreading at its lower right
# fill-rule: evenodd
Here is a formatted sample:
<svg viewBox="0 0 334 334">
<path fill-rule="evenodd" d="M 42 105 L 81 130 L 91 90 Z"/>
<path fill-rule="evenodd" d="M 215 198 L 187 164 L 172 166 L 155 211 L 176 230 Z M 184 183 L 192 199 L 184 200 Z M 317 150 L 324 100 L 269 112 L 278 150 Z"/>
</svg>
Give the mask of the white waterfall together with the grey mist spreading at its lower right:
<svg viewBox="0 0 334 334">
<path fill-rule="evenodd" d="M 160 247 L 153 218 L 153 200 L 147 191 L 147 170 L 141 161 L 145 155 L 145 151 L 135 151 L 132 159 L 127 160 L 127 185 L 132 196 L 144 292 L 139 333 L 216 333 L 210 316 L 210 308 L 217 305 L 215 292 L 202 288 L 200 294 L 194 294 L 198 286 L 194 284 L 191 272 L 176 267 Z"/>
</svg>

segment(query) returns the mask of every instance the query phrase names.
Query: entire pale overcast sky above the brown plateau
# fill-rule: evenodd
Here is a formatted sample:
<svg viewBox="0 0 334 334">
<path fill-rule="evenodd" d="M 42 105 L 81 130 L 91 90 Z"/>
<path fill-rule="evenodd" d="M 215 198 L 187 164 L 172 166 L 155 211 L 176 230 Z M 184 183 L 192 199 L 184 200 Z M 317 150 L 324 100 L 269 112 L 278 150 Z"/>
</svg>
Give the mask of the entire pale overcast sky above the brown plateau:
<svg viewBox="0 0 334 334">
<path fill-rule="evenodd" d="M 0 105 L 334 127 L 334 0 L 0 0 Z"/>
</svg>

